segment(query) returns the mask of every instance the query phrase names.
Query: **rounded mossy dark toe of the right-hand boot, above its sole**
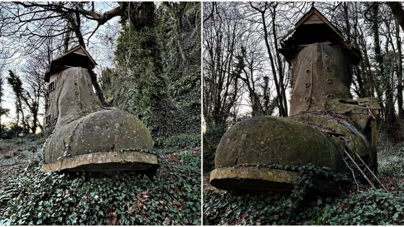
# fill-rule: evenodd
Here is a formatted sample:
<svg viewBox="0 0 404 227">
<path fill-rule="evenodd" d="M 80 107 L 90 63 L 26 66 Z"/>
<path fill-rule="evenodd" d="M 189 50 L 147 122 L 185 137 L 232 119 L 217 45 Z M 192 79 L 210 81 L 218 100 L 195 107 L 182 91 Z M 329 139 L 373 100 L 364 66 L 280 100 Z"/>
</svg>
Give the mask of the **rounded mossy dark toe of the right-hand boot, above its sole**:
<svg viewBox="0 0 404 227">
<path fill-rule="evenodd" d="M 341 154 L 327 136 L 289 118 L 260 116 L 234 125 L 220 140 L 215 168 L 241 164 L 342 167 Z"/>
</svg>

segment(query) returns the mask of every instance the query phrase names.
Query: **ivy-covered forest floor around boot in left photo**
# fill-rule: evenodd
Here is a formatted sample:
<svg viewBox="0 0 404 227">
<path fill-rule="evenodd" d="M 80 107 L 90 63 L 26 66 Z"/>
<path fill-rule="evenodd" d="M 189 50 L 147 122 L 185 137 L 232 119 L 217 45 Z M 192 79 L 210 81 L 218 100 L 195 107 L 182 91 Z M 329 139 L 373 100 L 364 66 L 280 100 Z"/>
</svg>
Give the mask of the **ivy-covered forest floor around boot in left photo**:
<svg viewBox="0 0 404 227">
<path fill-rule="evenodd" d="M 149 173 L 42 173 L 43 139 L 0 140 L 0 225 L 200 224 L 200 135 L 155 141 Z"/>
</svg>

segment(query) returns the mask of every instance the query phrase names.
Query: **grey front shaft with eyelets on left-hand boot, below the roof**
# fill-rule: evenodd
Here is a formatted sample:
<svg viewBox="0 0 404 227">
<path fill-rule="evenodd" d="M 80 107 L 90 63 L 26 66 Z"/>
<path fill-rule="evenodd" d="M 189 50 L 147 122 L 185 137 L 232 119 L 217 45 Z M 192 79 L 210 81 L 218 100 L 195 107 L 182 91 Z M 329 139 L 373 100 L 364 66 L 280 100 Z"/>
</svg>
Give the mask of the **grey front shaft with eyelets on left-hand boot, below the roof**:
<svg viewBox="0 0 404 227">
<path fill-rule="evenodd" d="M 102 104 L 92 89 L 87 69 L 66 69 L 62 72 L 60 80 L 62 86 L 58 98 L 58 125 L 102 109 Z"/>
</svg>

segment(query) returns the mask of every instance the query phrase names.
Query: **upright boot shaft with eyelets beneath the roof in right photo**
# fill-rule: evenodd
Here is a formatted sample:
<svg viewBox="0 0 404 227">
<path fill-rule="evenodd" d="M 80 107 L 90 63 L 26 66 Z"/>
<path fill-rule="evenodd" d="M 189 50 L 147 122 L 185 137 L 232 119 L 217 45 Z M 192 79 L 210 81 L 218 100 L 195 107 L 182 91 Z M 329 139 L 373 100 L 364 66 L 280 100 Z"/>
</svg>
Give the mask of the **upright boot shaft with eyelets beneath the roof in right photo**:
<svg viewBox="0 0 404 227">
<path fill-rule="evenodd" d="M 328 100 L 352 98 L 348 54 L 340 45 L 310 44 L 295 56 L 291 68 L 290 115 L 300 111 L 332 110 L 326 107 Z"/>
</svg>

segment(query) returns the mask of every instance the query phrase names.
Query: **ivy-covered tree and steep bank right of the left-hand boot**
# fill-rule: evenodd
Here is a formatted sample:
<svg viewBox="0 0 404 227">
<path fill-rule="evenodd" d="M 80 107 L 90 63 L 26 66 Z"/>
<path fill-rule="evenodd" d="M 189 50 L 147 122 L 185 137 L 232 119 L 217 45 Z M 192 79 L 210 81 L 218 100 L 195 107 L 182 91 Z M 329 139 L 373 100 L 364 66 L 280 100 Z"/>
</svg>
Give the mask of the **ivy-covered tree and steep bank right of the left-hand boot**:
<svg viewBox="0 0 404 227">
<path fill-rule="evenodd" d="M 141 30 L 122 21 L 117 64 L 101 77 L 106 100 L 136 115 L 154 137 L 200 131 L 200 34 L 188 27 L 195 23 L 182 23 L 198 13 L 200 3 L 168 3 Z"/>
</svg>

